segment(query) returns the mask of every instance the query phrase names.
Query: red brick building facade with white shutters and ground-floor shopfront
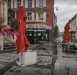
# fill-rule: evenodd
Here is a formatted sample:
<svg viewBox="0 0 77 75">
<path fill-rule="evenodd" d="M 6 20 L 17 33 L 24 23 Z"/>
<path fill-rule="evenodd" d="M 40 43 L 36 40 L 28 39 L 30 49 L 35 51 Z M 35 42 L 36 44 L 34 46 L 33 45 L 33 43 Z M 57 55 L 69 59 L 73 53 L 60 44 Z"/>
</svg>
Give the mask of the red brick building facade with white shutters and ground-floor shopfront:
<svg viewBox="0 0 77 75">
<path fill-rule="evenodd" d="M 8 23 L 10 23 L 11 11 L 14 11 L 16 18 L 20 5 L 23 5 L 27 11 L 26 35 L 30 43 L 50 41 L 54 25 L 54 0 L 8 0 Z"/>
</svg>

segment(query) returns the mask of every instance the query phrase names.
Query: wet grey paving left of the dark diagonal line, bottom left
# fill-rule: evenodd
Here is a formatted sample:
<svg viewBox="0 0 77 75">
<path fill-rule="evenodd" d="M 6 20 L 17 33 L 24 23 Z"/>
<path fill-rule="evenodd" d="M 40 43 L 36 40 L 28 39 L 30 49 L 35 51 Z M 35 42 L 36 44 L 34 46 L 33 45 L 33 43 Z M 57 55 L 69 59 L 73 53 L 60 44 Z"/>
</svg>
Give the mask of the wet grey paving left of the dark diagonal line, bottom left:
<svg viewBox="0 0 77 75">
<path fill-rule="evenodd" d="M 13 66 L 17 59 L 18 59 L 17 54 L 1 53 L 0 54 L 0 75 L 2 75 L 11 66 Z"/>
</svg>

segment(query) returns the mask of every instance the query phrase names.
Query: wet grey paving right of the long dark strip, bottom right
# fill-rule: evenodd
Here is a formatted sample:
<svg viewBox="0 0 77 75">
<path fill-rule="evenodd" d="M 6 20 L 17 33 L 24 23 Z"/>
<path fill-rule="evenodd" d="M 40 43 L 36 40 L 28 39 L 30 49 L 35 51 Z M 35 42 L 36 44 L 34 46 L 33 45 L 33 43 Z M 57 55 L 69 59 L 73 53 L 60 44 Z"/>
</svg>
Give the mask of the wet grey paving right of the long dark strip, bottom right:
<svg viewBox="0 0 77 75">
<path fill-rule="evenodd" d="M 77 75 L 77 54 L 63 53 L 58 48 L 53 75 Z"/>
</svg>

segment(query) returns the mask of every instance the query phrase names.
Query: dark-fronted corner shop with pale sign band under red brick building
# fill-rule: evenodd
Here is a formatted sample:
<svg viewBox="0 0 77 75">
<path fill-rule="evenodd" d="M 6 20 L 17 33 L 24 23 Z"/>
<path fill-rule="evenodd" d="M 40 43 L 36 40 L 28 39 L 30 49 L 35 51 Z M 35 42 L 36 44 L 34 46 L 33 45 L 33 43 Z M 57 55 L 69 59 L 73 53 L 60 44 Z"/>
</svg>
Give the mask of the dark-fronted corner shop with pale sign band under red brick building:
<svg viewBox="0 0 77 75">
<path fill-rule="evenodd" d="M 27 25 L 27 37 L 30 43 L 37 44 L 39 41 L 48 40 L 48 29 L 47 25 Z"/>
</svg>

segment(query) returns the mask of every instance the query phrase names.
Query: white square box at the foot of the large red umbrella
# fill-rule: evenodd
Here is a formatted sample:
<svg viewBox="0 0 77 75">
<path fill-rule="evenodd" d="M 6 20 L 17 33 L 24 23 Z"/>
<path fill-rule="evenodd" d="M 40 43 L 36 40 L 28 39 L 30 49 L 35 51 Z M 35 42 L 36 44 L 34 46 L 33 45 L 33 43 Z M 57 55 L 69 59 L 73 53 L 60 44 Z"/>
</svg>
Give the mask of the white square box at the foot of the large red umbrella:
<svg viewBox="0 0 77 75">
<path fill-rule="evenodd" d="M 36 51 L 29 50 L 27 52 L 23 51 L 20 54 L 19 61 L 17 64 L 19 66 L 27 66 L 27 65 L 32 65 L 37 62 L 37 53 Z"/>
</svg>

